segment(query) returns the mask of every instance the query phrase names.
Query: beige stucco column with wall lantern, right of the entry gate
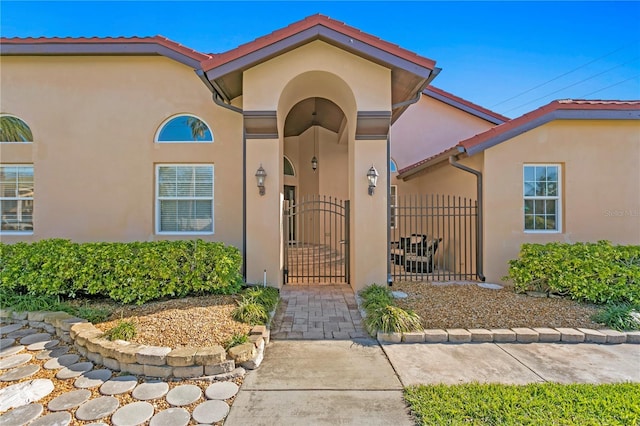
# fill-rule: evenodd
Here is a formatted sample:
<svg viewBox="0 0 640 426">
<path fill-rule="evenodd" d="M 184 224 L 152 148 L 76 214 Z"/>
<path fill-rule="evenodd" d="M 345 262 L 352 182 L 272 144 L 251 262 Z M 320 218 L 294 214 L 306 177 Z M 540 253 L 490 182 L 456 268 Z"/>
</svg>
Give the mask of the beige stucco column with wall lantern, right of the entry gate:
<svg viewBox="0 0 640 426">
<path fill-rule="evenodd" d="M 349 142 L 350 283 L 354 291 L 387 281 L 387 135 L 388 112 L 358 112 L 356 137 Z M 369 195 L 367 172 L 378 171 Z"/>
</svg>

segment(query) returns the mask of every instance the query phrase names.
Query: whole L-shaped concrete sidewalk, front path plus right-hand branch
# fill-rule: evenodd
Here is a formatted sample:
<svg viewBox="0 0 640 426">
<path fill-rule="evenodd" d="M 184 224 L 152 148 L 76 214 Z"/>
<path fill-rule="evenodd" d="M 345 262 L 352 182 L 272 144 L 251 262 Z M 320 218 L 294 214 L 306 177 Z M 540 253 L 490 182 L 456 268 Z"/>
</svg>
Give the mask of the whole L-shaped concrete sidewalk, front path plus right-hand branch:
<svg viewBox="0 0 640 426">
<path fill-rule="evenodd" d="M 412 425 L 402 388 L 640 382 L 640 345 L 272 341 L 225 425 Z"/>
</svg>

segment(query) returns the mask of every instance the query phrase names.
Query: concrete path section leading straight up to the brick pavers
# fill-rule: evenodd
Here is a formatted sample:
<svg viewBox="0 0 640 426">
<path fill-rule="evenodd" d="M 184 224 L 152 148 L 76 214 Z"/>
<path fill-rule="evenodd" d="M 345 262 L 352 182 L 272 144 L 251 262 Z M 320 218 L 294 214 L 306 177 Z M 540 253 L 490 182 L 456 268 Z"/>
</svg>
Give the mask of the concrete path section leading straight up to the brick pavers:
<svg viewBox="0 0 640 426">
<path fill-rule="evenodd" d="M 413 425 L 378 342 L 272 341 L 225 425 Z"/>
</svg>

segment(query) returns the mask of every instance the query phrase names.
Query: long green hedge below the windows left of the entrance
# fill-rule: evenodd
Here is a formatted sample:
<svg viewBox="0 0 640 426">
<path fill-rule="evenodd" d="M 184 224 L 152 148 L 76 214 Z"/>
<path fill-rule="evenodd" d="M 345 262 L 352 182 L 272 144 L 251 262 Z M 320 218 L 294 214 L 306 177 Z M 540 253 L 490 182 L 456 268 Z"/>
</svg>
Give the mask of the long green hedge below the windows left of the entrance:
<svg viewBox="0 0 640 426">
<path fill-rule="evenodd" d="M 194 293 L 240 290 L 235 247 L 197 241 L 0 244 L 0 285 L 37 295 L 100 295 L 142 304 Z"/>
</svg>

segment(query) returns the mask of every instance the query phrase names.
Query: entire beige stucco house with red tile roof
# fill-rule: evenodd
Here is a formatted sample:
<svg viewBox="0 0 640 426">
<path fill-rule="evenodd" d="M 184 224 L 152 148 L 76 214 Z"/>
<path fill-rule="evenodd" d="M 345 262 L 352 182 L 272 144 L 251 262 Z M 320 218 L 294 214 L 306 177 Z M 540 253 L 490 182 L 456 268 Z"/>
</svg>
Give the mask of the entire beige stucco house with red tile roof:
<svg viewBox="0 0 640 426">
<path fill-rule="evenodd" d="M 640 243 L 640 101 L 509 120 L 322 15 L 221 54 L 160 36 L 0 54 L 3 242 L 201 238 L 238 247 L 248 282 L 354 290 L 499 280 L 527 241 Z"/>
</svg>

